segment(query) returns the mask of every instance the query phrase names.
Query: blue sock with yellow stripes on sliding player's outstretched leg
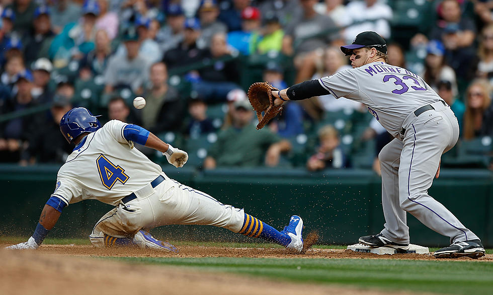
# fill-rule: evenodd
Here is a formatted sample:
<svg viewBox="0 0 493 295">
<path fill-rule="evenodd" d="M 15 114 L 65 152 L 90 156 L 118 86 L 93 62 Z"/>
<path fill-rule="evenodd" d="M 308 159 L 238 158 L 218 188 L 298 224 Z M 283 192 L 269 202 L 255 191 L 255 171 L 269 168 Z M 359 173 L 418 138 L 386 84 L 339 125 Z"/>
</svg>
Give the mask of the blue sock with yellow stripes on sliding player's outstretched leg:
<svg viewBox="0 0 493 295">
<path fill-rule="evenodd" d="M 261 238 L 284 247 L 291 243 L 291 237 L 279 232 L 250 214 L 245 214 L 243 226 L 238 233 L 252 238 Z"/>
</svg>

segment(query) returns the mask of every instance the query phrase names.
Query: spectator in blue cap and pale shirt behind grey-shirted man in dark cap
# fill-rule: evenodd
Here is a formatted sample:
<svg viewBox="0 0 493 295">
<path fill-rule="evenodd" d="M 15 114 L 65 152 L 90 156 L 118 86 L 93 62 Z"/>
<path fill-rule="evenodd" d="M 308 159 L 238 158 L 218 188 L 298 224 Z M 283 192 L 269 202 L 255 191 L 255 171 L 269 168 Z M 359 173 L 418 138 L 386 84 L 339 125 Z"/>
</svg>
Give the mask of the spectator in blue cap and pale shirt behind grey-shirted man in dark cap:
<svg viewBox="0 0 493 295">
<path fill-rule="evenodd" d="M 162 55 L 157 42 L 149 38 L 149 26 L 150 19 L 148 18 L 139 16 L 135 20 L 135 28 L 137 30 L 138 42 L 140 44 L 139 54 L 146 57 L 150 63 L 154 63 L 161 60 Z M 127 54 L 125 46 L 123 44 L 120 45 L 115 54 L 125 56 Z"/>
</svg>

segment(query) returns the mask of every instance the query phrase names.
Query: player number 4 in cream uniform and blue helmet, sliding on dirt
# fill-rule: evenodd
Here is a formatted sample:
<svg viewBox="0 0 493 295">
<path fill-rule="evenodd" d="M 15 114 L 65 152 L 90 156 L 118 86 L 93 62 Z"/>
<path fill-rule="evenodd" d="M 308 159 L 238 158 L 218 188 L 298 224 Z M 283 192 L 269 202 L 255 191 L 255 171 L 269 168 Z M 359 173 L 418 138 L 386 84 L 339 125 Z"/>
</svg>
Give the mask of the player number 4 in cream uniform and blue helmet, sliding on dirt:
<svg viewBox="0 0 493 295">
<path fill-rule="evenodd" d="M 36 249 L 55 226 L 68 204 L 97 199 L 115 206 L 104 215 L 89 239 L 95 247 L 138 246 L 178 252 L 148 231 L 163 225 L 211 225 L 293 249 L 303 249 L 303 221 L 291 216 L 279 232 L 243 209 L 225 205 L 206 193 L 170 179 L 161 167 L 137 149 L 137 142 L 162 152 L 170 164 L 182 167 L 186 152 L 161 141 L 146 129 L 112 120 L 101 127 L 85 108 L 74 108 L 61 119 L 60 130 L 75 144 L 58 171 L 56 188 L 44 206 L 34 234 L 10 249 Z"/>
</svg>

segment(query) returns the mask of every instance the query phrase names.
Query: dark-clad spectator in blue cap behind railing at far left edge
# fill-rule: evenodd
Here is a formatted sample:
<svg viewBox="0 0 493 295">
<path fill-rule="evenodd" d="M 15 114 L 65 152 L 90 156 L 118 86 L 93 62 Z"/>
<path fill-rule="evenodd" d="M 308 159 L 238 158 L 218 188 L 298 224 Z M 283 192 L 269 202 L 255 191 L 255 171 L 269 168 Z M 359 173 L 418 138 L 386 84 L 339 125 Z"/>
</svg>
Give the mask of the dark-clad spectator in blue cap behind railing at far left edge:
<svg viewBox="0 0 493 295">
<path fill-rule="evenodd" d="M 31 94 L 33 77 L 29 71 L 17 76 L 17 94 L 11 100 L 6 100 L 2 113 L 22 111 L 36 105 Z M 27 149 L 27 140 L 34 122 L 32 116 L 12 119 L 0 125 L 0 162 L 19 162 L 21 154 Z"/>
</svg>

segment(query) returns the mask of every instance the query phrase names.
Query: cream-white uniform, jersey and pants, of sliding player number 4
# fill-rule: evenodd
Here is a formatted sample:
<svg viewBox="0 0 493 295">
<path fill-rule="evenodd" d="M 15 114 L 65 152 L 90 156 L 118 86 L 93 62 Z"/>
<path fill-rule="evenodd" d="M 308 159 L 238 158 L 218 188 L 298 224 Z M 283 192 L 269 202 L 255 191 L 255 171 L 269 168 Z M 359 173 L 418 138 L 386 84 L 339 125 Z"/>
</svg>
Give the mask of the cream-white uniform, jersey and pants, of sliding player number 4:
<svg viewBox="0 0 493 295">
<path fill-rule="evenodd" d="M 125 125 L 112 120 L 87 135 L 58 171 L 52 196 L 67 205 L 97 199 L 116 206 L 94 227 L 93 245 L 104 246 L 105 235 L 124 238 L 142 228 L 169 224 L 212 225 L 258 237 L 263 226 L 260 220 L 170 179 L 159 165 L 131 149 L 123 135 Z M 152 187 L 159 176 L 162 182 Z M 121 201 L 132 193 L 135 199 Z M 246 218 L 249 221 L 243 229 Z"/>
</svg>

